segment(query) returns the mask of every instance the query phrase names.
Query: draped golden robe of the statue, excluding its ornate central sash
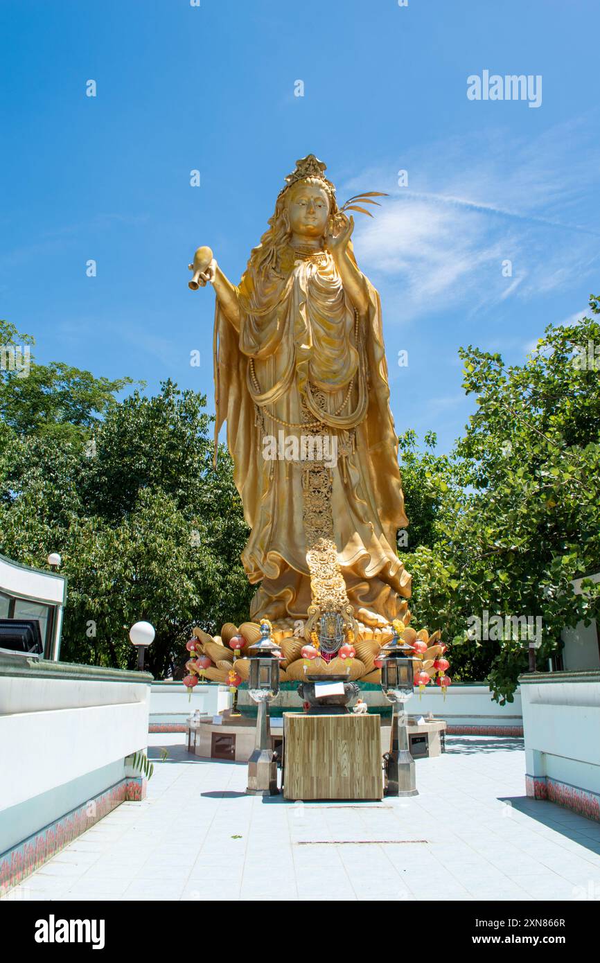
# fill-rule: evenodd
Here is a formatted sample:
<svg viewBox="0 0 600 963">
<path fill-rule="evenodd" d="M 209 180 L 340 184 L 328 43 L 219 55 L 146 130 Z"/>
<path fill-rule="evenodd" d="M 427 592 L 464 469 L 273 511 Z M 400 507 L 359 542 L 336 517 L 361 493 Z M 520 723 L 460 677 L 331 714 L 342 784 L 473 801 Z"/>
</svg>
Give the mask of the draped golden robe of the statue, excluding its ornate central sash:
<svg viewBox="0 0 600 963">
<path fill-rule="evenodd" d="M 239 332 L 219 301 L 216 308 L 216 431 L 226 419 L 234 480 L 252 530 L 242 561 L 249 582 L 262 581 L 250 614 L 305 618 L 310 605 L 306 463 L 263 456 L 264 433 L 301 435 L 308 418 L 322 426 L 313 433 L 325 431 L 338 445 L 331 514 L 350 602 L 391 620 L 398 596 L 410 595 L 410 576 L 396 551 L 407 521 L 378 292 L 366 282 L 369 306 L 358 316 L 330 255 L 322 263 L 291 255 L 288 268 L 259 274 L 248 267 Z"/>
</svg>

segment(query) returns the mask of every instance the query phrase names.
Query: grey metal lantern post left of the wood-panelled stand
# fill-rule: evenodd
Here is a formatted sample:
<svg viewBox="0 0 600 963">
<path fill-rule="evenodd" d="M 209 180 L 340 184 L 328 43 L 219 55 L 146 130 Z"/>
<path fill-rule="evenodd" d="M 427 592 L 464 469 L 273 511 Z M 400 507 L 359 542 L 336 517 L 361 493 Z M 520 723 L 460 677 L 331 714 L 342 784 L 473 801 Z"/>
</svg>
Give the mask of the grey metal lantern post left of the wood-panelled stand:
<svg viewBox="0 0 600 963">
<path fill-rule="evenodd" d="M 248 648 L 250 673 L 248 692 L 257 705 L 254 749 L 248 759 L 248 795 L 276 795 L 277 763 L 269 733 L 269 703 L 279 693 L 279 659 L 281 652 L 271 638 L 268 623 L 262 622 L 261 636 Z"/>
</svg>

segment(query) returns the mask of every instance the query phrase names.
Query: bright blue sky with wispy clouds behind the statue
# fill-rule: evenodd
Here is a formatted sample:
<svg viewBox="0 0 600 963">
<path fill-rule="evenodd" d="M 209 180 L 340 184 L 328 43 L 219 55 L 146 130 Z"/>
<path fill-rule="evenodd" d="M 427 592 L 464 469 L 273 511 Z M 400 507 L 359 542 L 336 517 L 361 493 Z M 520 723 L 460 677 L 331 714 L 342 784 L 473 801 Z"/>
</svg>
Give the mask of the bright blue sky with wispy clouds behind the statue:
<svg viewBox="0 0 600 963">
<path fill-rule="evenodd" d="M 390 194 L 354 249 L 396 427 L 448 450 L 473 409 L 458 347 L 520 363 L 600 288 L 599 28 L 594 0 L 3 0 L 0 317 L 39 360 L 212 408 L 214 295 L 188 262 L 210 245 L 237 281 L 312 152 L 341 201 Z M 469 100 L 484 69 L 541 75 L 541 105 Z"/>
</svg>

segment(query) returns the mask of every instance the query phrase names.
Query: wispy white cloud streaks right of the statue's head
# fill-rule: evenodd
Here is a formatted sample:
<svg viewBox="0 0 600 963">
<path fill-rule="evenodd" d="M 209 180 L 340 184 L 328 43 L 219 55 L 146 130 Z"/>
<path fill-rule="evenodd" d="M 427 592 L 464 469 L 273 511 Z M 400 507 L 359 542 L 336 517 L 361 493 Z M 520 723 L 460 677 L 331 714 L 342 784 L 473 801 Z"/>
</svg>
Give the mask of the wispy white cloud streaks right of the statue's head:
<svg viewBox="0 0 600 963">
<path fill-rule="evenodd" d="M 357 216 L 355 249 L 398 301 L 394 314 L 406 321 L 459 305 L 479 313 L 560 291 L 574 278 L 585 284 L 600 260 L 587 203 L 600 164 L 586 136 L 573 121 L 536 140 L 503 132 L 455 139 L 346 184 L 348 194 L 388 185 L 375 219 Z M 407 188 L 395 186 L 399 167 L 408 170 Z"/>
</svg>

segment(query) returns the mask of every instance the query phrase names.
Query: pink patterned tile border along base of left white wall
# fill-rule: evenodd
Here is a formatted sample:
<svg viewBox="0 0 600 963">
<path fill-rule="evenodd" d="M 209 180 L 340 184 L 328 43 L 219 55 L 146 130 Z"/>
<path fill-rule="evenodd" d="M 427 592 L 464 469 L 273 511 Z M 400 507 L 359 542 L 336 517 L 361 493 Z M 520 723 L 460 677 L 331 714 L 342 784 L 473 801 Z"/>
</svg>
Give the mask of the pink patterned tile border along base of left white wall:
<svg viewBox="0 0 600 963">
<path fill-rule="evenodd" d="M 77 836 L 105 816 L 121 802 L 140 802 L 145 798 L 146 780 L 141 776 L 121 779 L 104 793 L 94 796 L 60 820 L 44 826 L 22 843 L 0 853 L 0 896 L 37 870 Z"/>
</svg>

